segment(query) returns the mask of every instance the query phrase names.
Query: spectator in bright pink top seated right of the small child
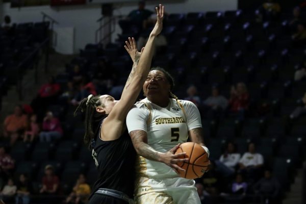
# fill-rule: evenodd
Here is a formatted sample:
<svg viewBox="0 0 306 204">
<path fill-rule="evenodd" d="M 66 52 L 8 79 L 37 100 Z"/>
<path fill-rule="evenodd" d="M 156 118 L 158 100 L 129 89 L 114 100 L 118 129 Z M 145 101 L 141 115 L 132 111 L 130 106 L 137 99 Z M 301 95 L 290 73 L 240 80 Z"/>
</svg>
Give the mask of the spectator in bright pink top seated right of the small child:
<svg viewBox="0 0 306 204">
<path fill-rule="evenodd" d="M 53 116 L 53 113 L 48 111 L 42 123 L 42 132 L 39 134 L 40 142 L 50 142 L 62 137 L 63 130 L 61 122 Z"/>
</svg>

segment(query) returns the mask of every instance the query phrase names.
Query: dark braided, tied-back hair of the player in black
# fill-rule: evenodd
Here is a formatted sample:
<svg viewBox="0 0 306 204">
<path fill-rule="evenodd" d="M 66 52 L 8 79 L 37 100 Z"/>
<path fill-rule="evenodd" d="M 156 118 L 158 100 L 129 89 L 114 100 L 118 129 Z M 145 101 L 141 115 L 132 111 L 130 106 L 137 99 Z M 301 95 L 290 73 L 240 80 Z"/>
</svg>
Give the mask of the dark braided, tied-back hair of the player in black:
<svg viewBox="0 0 306 204">
<path fill-rule="evenodd" d="M 100 95 L 93 96 L 89 95 L 84 98 L 77 109 L 74 111 L 74 116 L 77 115 L 79 111 L 82 113 L 85 112 L 85 135 L 84 143 L 91 149 L 91 140 L 94 139 L 94 134 L 97 132 L 97 127 L 103 117 L 106 117 L 106 114 L 101 114 L 96 111 L 96 107 L 104 107 L 100 100 Z"/>
</svg>

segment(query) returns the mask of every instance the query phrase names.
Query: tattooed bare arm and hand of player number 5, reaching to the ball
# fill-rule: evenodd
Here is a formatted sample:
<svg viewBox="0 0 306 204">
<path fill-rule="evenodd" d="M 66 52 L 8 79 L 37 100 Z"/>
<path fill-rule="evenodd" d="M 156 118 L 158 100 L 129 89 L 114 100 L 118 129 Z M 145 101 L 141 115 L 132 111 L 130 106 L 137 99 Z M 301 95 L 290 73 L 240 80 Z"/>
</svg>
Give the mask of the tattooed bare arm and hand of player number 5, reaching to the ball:
<svg viewBox="0 0 306 204">
<path fill-rule="evenodd" d="M 184 157 L 186 153 L 181 153 L 174 155 L 174 152 L 177 148 L 180 147 L 180 144 L 177 144 L 175 147 L 167 151 L 166 153 L 162 153 L 159 151 L 156 151 L 154 148 L 152 148 L 150 145 L 147 144 L 147 133 L 142 130 L 136 130 L 132 131 L 130 133 L 130 136 L 132 138 L 132 142 L 134 145 L 135 150 L 137 151 L 137 154 L 152 161 L 162 162 L 166 165 L 170 166 L 175 172 L 177 170 L 182 170 L 181 167 L 177 166 L 177 162 L 187 162 L 188 159 L 179 159 Z"/>
</svg>

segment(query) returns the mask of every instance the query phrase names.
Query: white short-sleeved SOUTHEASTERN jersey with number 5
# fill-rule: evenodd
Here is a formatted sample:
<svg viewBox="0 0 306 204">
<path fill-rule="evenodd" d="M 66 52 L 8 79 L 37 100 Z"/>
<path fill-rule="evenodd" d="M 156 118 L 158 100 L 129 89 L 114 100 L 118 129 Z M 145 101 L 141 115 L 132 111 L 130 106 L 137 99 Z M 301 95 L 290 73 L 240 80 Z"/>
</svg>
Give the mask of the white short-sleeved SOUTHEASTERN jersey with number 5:
<svg viewBox="0 0 306 204">
<path fill-rule="evenodd" d="M 145 98 L 126 117 L 129 133 L 135 130 L 145 131 L 148 145 L 160 152 L 167 152 L 176 144 L 186 142 L 188 131 L 202 126 L 199 111 L 192 102 L 180 100 L 182 107 L 175 99 L 170 99 L 169 102 L 168 107 L 163 108 Z M 179 177 L 164 163 L 143 157 L 139 157 L 138 162 L 138 176 L 156 179 Z"/>
</svg>

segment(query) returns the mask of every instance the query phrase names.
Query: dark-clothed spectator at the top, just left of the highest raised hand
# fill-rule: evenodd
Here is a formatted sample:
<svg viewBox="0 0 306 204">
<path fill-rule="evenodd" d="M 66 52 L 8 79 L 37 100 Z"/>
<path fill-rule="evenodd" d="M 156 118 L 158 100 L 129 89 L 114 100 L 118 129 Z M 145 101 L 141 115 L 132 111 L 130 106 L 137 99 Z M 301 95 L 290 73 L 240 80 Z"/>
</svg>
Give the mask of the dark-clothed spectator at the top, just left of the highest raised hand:
<svg viewBox="0 0 306 204">
<path fill-rule="evenodd" d="M 136 25 L 139 30 L 144 28 L 146 20 L 153 14 L 154 12 L 145 9 L 145 2 L 140 1 L 138 3 L 138 9 L 135 9 L 129 13 L 127 16 L 131 23 Z"/>
</svg>

